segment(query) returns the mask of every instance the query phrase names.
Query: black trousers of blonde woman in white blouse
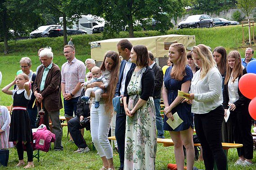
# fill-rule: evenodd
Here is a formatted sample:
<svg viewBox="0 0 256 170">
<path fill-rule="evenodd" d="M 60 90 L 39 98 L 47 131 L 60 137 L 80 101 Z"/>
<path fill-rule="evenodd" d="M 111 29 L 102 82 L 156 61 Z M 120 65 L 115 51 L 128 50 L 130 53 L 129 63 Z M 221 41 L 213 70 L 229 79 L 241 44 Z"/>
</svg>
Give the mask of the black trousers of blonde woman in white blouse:
<svg viewBox="0 0 256 170">
<path fill-rule="evenodd" d="M 213 170 L 214 161 L 218 170 L 226 170 L 227 158 L 221 144 L 223 119 L 222 105 L 206 114 L 194 114 L 194 126 L 203 148 L 205 170 Z"/>
</svg>

